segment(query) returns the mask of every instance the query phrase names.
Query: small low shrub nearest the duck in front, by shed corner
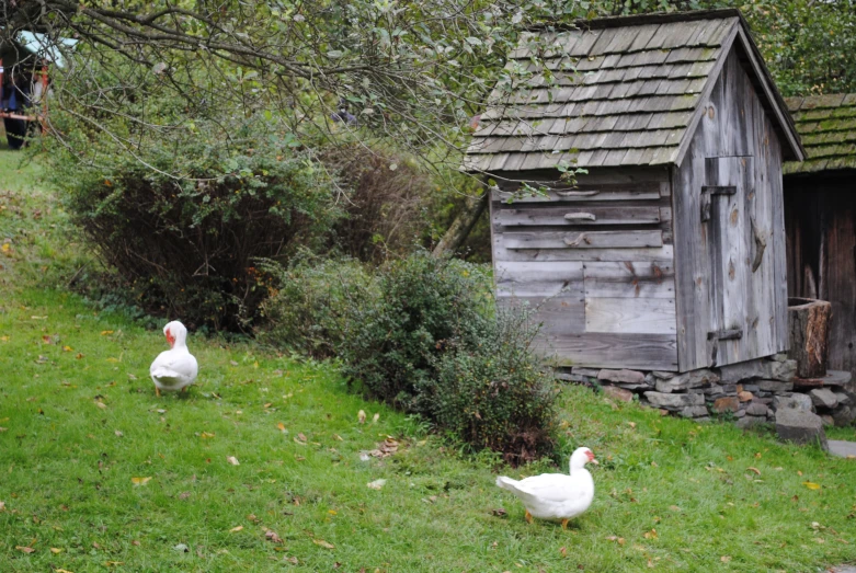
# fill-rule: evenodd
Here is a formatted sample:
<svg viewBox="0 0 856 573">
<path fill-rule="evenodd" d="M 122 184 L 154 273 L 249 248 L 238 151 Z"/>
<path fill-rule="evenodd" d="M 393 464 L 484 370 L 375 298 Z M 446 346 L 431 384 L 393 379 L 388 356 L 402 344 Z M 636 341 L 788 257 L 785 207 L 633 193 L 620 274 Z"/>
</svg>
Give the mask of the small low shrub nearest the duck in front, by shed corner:
<svg viewBox="0 0 856 573">
<path fill-rule="evenodd" d="M 555 446 L 553 379 L 530 345 L 527 313 L 501 309 L 476 344 L 453 343 L 419 388 L 420 410 L 475 449 L 500 451 L 516 466 Z"/>
</svg>

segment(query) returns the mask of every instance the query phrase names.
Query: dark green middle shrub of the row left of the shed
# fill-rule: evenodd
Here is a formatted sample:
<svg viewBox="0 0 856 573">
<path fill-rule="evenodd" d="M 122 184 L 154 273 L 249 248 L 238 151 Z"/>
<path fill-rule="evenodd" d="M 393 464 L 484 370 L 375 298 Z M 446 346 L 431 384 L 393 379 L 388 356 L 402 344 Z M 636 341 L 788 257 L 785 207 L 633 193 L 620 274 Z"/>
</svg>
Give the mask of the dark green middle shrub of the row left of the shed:
<svg viewBox="0 0 856 573">
<path fill-rule="evenodd" d="M 420 411 L 416 391 L 453 340 L 471 342 L 488 320 L 490 284 L 476 265 L 418 252 L 387 265 L 379 297 L 351 309 L 340 356 L 374 398 Z"/>
</svg>

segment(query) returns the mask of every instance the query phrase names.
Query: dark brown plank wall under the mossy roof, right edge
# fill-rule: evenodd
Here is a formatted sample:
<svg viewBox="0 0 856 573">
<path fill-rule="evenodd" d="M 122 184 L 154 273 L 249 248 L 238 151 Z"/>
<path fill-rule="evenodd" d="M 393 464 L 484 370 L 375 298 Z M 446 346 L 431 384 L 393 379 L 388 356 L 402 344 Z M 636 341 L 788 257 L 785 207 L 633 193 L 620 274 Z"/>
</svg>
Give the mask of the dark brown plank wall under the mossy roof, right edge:
<svg viewBox="0 0 856 573">
<path fill-rule="evenodd" d="M 829 363 L 856 374 L 856 177 L 785 177 L 788 294 L 832 303 Z"/>
</svg>

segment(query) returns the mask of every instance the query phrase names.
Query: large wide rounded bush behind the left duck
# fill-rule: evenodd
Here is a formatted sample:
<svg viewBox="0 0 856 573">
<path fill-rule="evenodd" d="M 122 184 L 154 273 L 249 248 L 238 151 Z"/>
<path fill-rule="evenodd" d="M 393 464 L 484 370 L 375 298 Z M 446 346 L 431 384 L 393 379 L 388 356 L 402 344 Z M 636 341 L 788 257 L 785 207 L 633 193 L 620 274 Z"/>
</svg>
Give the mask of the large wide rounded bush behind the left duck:
<svg viewBox="0 0 856 573">
<path fill-rule="evenodd" d="M 270 286 L 254 261 L 320 241 L 341 214 L 323 170 L 258 118 L 228 142 L 204 121 L 164 131 L 142 158 L 72 126 L 52 160 L 75 221 L 144 308 L 191 328 L 246 330 Z M 76 160 L 87 145 L 98 162 Z"/>
</svg>

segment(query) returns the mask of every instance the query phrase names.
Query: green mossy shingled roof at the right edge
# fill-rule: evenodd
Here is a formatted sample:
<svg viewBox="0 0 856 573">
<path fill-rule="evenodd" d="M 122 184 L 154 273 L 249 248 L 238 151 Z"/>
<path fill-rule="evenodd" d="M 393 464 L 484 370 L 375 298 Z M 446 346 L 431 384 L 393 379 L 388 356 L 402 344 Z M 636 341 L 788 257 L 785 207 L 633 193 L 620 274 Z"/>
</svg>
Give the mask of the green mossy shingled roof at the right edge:
<svg viewBox="0 0 856 573">
<path fill-rule="evenodd" d="M 808 154 L 785 163 L 786 174 L 856 169 L 856 93 L 785 101 Z"/>
</svg>

